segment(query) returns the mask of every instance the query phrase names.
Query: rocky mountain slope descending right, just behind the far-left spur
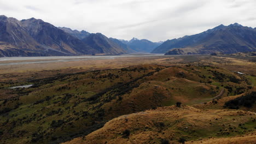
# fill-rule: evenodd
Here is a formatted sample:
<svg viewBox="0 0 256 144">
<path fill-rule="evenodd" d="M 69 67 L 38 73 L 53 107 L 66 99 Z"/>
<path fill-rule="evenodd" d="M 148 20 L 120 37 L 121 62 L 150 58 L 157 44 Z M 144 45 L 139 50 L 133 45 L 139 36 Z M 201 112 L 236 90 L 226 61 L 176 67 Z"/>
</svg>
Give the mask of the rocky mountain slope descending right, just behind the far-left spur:
<svg viewBox="0 0 256 144">
<path fill-rule="evenodd" d="M 71 55 L 83 55 L 84 53 L 97 52 L 81 40 L 48 22 L 31 18 L 22 20 L 21 25 L 39 44 L 44 45 L 45 49 L 70 53 Z"/>
</svg>

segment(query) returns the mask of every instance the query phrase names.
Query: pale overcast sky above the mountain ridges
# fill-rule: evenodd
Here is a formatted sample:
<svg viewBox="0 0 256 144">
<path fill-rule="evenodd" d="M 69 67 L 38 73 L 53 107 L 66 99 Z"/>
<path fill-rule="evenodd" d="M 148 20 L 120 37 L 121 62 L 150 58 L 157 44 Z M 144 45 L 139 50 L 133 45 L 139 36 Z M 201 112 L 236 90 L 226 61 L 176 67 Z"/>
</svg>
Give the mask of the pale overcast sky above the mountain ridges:
<svg viewBox="0 0 256 144">
<path fill-rule="evenodd" d="M 34 17 L 107 37 L 164 41 L 238 22 L 256 27 L 255 0 L 0 0 L 0 15 Z"/>
</svg>

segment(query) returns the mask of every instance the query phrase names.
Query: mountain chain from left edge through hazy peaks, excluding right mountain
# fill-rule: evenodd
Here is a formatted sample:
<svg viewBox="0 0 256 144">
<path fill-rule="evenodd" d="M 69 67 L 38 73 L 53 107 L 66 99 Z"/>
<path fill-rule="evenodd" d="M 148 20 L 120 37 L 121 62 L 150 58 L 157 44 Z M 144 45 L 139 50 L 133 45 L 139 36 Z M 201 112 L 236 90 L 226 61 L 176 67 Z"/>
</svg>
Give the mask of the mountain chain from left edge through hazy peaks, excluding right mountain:
<svg viewBox="0 0 256 144">
<path fill-rule="evenodd" d="M 19 21 L 13 17 L 0 16 L 0 57 L 77 56 L 99 53 L 119 55 L 150 52 L 158 46 L 149 40 L 136 39 L 137 46 L 132 42 L 130 40 L 125 44 L 101 33 L 55 27 L 40 19 Z M 133 44 L 131 48 L 129 44 Z"/>
</svg>

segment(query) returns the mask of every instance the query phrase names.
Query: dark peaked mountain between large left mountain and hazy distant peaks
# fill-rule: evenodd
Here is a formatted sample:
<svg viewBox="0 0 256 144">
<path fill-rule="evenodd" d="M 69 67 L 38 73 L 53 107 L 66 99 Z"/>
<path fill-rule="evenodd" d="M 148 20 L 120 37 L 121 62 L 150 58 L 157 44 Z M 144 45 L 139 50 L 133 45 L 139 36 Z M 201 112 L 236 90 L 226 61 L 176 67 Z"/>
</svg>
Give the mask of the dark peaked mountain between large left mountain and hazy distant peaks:
<svg viewBox="0 0 256 144">
<path fill-rule="evenodd" d="M 107 53 L 110 55 L 127 53 L 127 51 L 122 49 L 119 44 L 114 43 L 114 41 L 101 33 L 92 33 L 88 37 L 82 39 L 82 41 L 85 44 L 94 47 L 94 49 L 100 53 Z"/>
</svg>

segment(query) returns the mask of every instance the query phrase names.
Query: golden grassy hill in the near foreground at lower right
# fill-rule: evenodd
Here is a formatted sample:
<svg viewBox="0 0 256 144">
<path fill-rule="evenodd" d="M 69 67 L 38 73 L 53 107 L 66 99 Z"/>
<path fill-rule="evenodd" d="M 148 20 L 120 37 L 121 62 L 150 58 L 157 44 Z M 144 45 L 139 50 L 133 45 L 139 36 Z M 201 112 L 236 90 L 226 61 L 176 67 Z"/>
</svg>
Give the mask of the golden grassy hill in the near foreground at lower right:
<svg viewBox="0 0 256 144">
<path fill-rule="evenodd" d="M 255 118 L 253 112 L 247 111 L 200 110 L 185 105 L 160 107 L 114 118 L 103 128 L 65 144 L 201 143 L 202 139 L 209 137 L 218 140 L 219 137 L 232 137 L 245 134 L 247 130 L 254 131 Z M 238 139 L 233 142 L 243 144 L 246 141 L 253 143 L 255 140 L 256 137 L 252 134 L 247 140 Z"/>
</svg>

